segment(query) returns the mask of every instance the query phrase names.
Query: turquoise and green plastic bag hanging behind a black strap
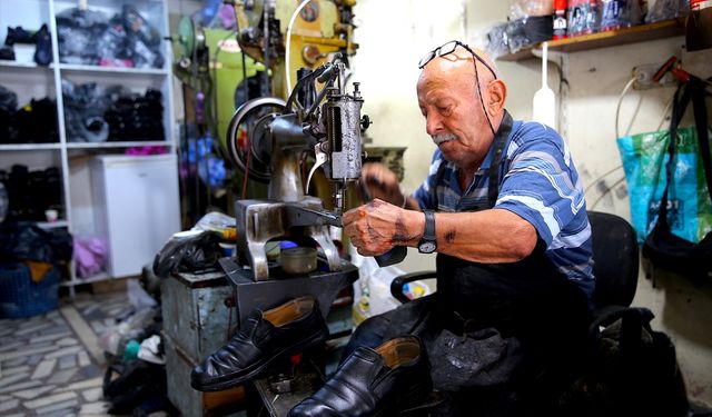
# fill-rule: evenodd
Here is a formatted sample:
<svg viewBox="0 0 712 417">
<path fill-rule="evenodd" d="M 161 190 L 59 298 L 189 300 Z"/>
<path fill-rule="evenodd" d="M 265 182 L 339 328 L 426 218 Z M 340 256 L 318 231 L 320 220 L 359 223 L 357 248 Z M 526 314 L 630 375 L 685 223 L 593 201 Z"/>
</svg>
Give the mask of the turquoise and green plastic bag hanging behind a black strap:
<svg viewBox="0 0 712 417">
<path fill-rule="evenodd" d="M 642 244 L 657 221 L 665 189 L 665 163 L 670 131 L 626 136 L 617 139 L 631 200 L 631 220 Z M 700 241 L 712 230 L 712 202 L 694 127 L 678 130 L 674 180 L 670 185 L 668 211 L 674 235 Z"/>
</svg>

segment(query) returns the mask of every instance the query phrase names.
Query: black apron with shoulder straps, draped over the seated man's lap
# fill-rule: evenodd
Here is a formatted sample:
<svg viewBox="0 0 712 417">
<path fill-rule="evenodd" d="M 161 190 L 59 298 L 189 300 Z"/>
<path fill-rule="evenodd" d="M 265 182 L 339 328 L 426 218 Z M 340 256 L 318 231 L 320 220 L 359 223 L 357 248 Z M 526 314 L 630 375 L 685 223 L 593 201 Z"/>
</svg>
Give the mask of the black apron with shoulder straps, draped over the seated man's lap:
<svg viewBox="0 0 712 417">
<path fill-rule="evenodd" d="M 500 162 L 512 123 L 505 111 L 493 143 L 487 202 L 471 211 L 496 202 Z M 436 183 L 442 182 L 444 168 L 442 163 Z M 417 335 L 429 356 L 433 384 L 446 394 L 434 415 L 536 415 L 523 410 L 555 403 L 556 389 L 550 388 L 567 379 L 561 378 L 563 374 L 575 371 L 571 364 L 585 351 L 589 322 L 584 292 L 554 267 L 545 250 L 540 239 L 528 257 L 508 264 L 438 254 L 437 291 L 363 322 L 343 359 L 358 346 L 376 347 L 397 336 Z"/>
</svg>

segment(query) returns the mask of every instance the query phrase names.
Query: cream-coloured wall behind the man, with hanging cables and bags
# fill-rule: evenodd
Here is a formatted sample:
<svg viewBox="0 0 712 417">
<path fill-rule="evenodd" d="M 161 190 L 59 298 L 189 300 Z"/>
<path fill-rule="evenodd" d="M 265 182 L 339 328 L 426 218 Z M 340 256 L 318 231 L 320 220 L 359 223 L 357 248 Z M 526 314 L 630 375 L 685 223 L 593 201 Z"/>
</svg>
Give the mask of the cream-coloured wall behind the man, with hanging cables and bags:
<svg viewBox="0 0 712 417">
<path fill-rule="evenodd" d="M 375 121 L 370 136 L 382 146 L 407 146 L 405 188 L 413 190 L 427 172 L 434 150 L 425 135 L 417 108 L 415 82 L 417 61 L 429 49 L 451 39 L 475 43 L 495 22 L 504 21 L 512 1 L 485 0 L 359 0 L 355 12 L 360 49 L 355 58 L 354 80 L 362 81 L 365 112 Z M 565 136 L 587 189 L 589 205 L 599 211 L 630 219 L 623 171 L 605 172 L 621 165 L 615 145 L 615 106 L 634 66 L 662 63 L 670 56 L 682 58 L 693 73 L 712 75 L 712 50 L 685 52 L 682 37 L 630 46 L 582 51 L 561 57 L 564 89 L 560 131 Z M 507 109 L 515 118 L 528 119 L 532 98 L 541 83 L 541 62 L 498 62 L 508 85 Z M 557 71 L 550 66 L 548 83 L 560 86 Z M 639 133 L 656 130 L 672 88 L 631 91 L 621 108 L 620 131 Z M 666 126 L 666 125 L 664 125 Z M 433 268 L 433 257 L 411 251 L 404 269 Z M 678 348 L 692 400 L 712 405 L 712 285 L 695 286 L 684 278 L 654 274 L 654 282 L 641 272 L 635 306 L 656 316 L 653 327 L 668 332 Z"/>
</svg>

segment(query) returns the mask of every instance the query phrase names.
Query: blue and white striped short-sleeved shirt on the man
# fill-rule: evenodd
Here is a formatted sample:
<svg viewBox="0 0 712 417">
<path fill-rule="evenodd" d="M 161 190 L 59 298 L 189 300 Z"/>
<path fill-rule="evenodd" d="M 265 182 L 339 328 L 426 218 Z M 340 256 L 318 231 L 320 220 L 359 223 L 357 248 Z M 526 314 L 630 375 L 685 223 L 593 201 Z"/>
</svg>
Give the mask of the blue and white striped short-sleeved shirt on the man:
<svg viewBox="0 0 712 417">
<path fill-rule="evenodd" d="M 552 128 L 515 120 L 505 145 L 500 169 L 500 193 L 495 208 L 527 220 L 546 244 L 546 255 L 591 299 L 594 289 L 591 225 L 578 172 L 568 147 Z M 475 172 L 469 188 L 459 188 L 457 168 L 438 150 L 429 173 L 413 197 L 421 208 L 444 212 L 473 211 L 487 207 L 490 169 L 494 146 Z M 437 172 L 445 163 L 439 183 Z M 437 207 L 433 196 L 435 189 Z"/>
</svg>

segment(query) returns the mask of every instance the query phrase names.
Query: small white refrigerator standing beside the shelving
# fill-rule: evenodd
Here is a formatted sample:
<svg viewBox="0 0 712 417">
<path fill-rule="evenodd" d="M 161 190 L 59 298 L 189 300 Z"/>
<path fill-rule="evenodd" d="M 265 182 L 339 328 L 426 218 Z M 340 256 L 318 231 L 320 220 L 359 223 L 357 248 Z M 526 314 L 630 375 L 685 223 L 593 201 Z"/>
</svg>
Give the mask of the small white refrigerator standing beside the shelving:
<svg viewBox="0 0 712 417">
<path fill-rule="evenodd" d="M 108 244 L 107 272 L 140 275 L 180 231 L 176 156 L 96 157 L 91 183 L 95 224 Z"/>
</svg>

